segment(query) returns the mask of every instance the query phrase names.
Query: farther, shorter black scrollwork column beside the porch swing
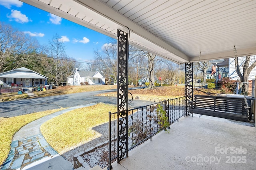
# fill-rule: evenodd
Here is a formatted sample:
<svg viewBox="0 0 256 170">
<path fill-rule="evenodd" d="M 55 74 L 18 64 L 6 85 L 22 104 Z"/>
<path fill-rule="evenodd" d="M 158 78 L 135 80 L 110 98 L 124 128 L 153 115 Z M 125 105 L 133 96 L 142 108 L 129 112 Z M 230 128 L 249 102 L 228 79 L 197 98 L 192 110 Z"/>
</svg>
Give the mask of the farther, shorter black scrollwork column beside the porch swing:
<svg viewBox="0 0 256 170">
<path fill-rule="evenodd" d="M 188 113 L 189 103 L 193 100 L 193 63 L 185 63 L 185 116 Z"/>
</svg>

